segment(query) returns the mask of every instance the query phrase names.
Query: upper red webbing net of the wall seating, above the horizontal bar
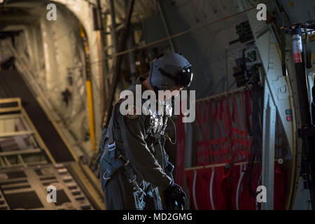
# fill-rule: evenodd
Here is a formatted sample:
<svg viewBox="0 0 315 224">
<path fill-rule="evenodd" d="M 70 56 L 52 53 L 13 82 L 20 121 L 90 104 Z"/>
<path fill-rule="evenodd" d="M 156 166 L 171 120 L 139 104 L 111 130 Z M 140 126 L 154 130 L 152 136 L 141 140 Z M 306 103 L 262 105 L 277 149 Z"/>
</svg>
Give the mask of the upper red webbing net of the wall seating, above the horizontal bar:
<svg viewBox="0 0 315 224">
<path fill-rule="evenodd" d="M 232 98 L 232 113 L 230 113 L 229 97 L 215 102 L 197 103 L 197 125 L 201 134 L 201 141 L 196 144 L 197 165 L 247 160 L 251 148 L 251 138 L 248 137 L 246 129 L 246 107 L 248 116 L 252 113 L 250 94 L 249 91 L 242 92 L 237 97 L 238 100 L 235 94 L 232 94 L 230 97 Z M 239 116 L 239 109 L 241 109 L 241 116 Z M 210 133 L 210 125 L 212 133 Z"/>
</svg>

